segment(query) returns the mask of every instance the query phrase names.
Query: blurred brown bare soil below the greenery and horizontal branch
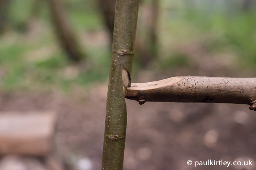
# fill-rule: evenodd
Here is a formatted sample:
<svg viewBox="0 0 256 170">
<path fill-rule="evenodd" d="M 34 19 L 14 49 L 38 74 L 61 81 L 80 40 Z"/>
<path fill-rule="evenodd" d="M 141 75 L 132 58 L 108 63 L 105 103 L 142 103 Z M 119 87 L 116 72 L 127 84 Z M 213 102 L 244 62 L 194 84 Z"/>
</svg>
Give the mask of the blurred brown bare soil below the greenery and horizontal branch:
<svg viewBox="0 0 256 170">
<path fill-rule="evenodd" d="M 162 78 L 158 73 L 150 74 L 142 71 L 137 79 Z M 161 75 L 166 78 L 174 74 Z M 77 88 L 68 95 L 56 91 L 2 93 L 0 111 L 56 111 L 56 140 L 63 147 L 67 162 L 75 165 L 86 157 L 92 161 L 92 169 L 97 170 L 101 169 L 107 86 L 103 83 L 87 90 Z M 256 115 L 249 106 L 154 102 L 140 106 L 136 101 L 126 101 L 125 170 L 256 168 Z M 250 159 L 252 166 L 194 166 L 194 161 L 208 159 Z M 187 165 L 188 160 L 192 165 Z"/>
</svg>

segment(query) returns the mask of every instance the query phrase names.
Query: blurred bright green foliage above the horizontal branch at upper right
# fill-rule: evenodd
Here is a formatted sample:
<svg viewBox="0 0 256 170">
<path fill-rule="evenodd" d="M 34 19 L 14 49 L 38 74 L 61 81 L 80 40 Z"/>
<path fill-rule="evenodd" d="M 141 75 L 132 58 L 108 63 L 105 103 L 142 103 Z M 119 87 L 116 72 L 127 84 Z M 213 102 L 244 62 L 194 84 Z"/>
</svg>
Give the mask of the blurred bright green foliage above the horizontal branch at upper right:
<svg viewBox="0 0 256 170">
<path fill-rule="evenodd" d="M 165 0 L 170 5 L 169 0 Z M 242 1 L 183 1 L 173 2 L 165 12 L 166 21 L 162 60 L 170 57 L 168 68 L 175 65 L 172 58 L 175 47 L 185 43 L 204 43 L 211 54 L 235 54 L 238 56 L 236 67 L 254 68 L 256 64 L 256 7 L 245 11 Z M 253 9 L 254 8 L 254 9 Z M 178 44 L 178 45 L 177 45 Z M 170 48 L 170 50 L 168 49 Z M 168 50 L 166 50 L 168 49 Z M 173 51 L 173 55 L 170 55 Z M 180 51 L 179 51 L 180 52 Z"/>
</svg>

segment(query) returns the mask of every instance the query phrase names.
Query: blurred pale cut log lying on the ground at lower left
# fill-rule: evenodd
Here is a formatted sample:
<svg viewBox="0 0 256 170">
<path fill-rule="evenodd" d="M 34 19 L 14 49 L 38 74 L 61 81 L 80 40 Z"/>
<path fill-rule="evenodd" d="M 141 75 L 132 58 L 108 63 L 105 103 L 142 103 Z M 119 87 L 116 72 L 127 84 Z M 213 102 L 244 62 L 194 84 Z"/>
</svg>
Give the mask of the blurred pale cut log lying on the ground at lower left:
<svg viewBox="0 0 256 170">
<path fill-rule="evenodd" d="M 55 124 L 53 112 L 1 113 L 0 155 L 48 155 L 52 150 Z"/>
</svg>

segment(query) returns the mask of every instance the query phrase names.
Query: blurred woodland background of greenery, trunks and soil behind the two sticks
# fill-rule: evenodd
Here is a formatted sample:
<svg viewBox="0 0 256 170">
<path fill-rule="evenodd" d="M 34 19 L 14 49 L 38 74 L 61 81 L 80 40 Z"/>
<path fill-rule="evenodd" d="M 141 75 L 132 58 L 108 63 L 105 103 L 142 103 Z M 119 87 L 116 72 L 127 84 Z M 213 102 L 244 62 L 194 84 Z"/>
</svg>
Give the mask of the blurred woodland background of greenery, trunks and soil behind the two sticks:
<svg viewBox="0 0 256 170">
<path fill-rule="evenodd" d="M 101 169 L 115 3 L 0 0 L 0 111 L 56 112 L 70 170 Z M 140 0 L 132 82 L 256 77 L 255 9 L 254 0 Z M 227 169 L 256 169 L 248 106 L 126 101 L 124 169 L 247 158 L 253 166 Z"/>
</svg>

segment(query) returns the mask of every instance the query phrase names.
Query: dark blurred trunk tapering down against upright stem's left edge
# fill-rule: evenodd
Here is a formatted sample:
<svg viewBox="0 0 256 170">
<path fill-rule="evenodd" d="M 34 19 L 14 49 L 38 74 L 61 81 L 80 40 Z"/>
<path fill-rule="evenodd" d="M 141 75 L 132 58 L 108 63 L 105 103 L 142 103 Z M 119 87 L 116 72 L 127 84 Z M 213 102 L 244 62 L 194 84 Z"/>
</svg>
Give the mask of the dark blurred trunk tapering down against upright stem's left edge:
<svg viewBox="0 0 256 170">
<path fill-rule="evenodd" d="M 110 33 L 110 44 L 113 41 L 116 0 L 98 0 L 98 6 L 103 14 L 105 24 Z"/>
</svg>

